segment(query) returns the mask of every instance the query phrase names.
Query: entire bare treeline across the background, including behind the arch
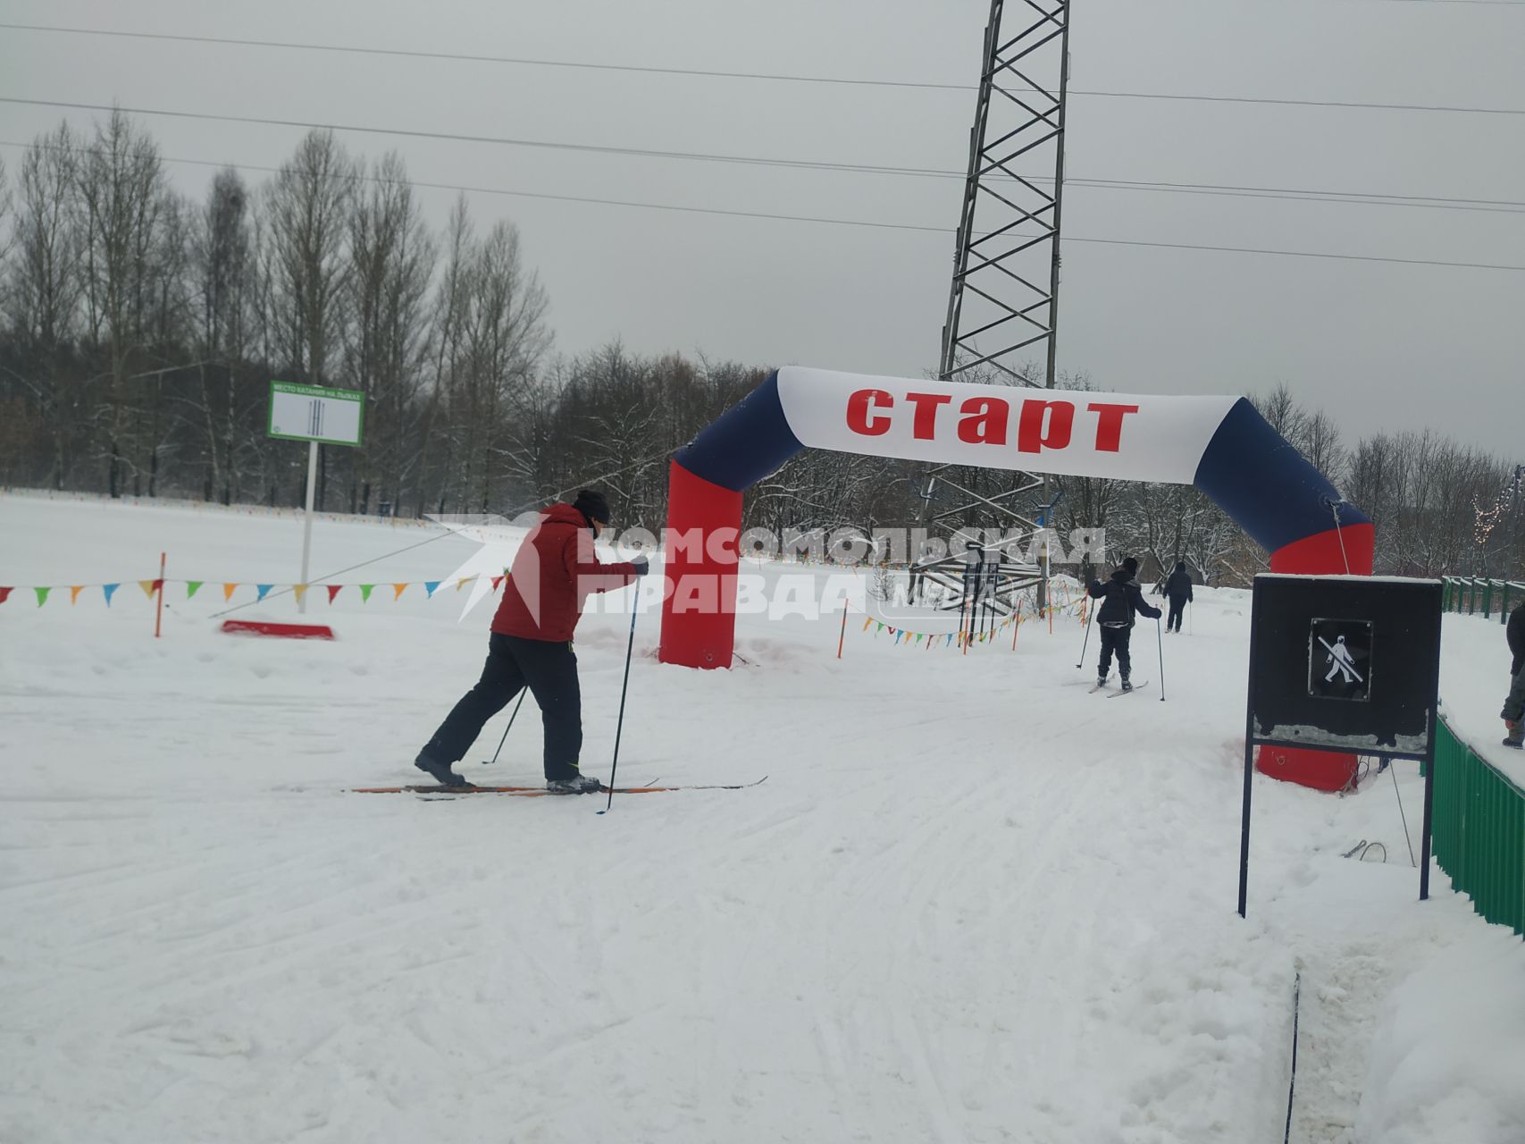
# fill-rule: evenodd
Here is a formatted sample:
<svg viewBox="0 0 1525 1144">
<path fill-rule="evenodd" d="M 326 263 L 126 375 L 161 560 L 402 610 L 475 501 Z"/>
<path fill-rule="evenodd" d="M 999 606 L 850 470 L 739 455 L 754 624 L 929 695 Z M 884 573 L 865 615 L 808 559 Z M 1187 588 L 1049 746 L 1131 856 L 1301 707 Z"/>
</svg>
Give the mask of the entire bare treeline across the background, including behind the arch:
<svg viewBox="0 0 1525 1144">
<path fill-rule="evenodd" d="M 64 121 L 0 165 L 0 484 L 300 503 L 307 450 L 265 435 L 285 380 L 366 395 L 363 445 L 322 450 L 325 509 L 511 513 L 599 484 L 619 523 L 656 528 L 668 458 L 766 368 L 618 345 L 558 357 L 549 307 L 514 224 L 477 224 L 462 197 L 432 227 L 395 153 L 314 131 L 264 182 L 223 169 L 192 200 L 128 116 Z M 1525 574 L 1505 462 L 1427 432 L 1347 445 L 1284 387 L 1258 404 L 1377 520 L 1379 570 Z M 1002 497 L 1023 484 L 949 470 L 929 499 L 921 465 L 807 451 L 746 516 L 999 528 L 987 500 L 1035 514 L 1042 490 Z M 1061 529 L 1103 526 L 1113 551 L 1185 558 L 1209 583 L 1264 567 L 1191 488 L 1054 477 L 1048 499 Z"/>
</svg>

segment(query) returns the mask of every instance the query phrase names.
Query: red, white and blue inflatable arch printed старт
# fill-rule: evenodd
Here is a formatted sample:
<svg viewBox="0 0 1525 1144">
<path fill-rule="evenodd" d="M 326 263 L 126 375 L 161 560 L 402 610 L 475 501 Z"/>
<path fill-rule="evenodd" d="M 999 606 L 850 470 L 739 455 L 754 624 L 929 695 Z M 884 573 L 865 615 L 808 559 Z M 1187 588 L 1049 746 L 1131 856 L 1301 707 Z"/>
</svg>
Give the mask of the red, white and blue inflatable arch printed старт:
<svg viewBox="0 0 1525 1144">
<path fill-rule="evenodd" d="M 1371 520 L 1246 398 L 1014 389 L 788 366 L 671 462 L 668 535 L 705 543 L 669 546 L 663 664 L 730 667 L 741 494 L 802 448 L 1196 485 L 1270 551 L 1272 572 L 1371 575 Z M 1301 755 L 1350 758 L 1276 754 L 1289 760 L 1289 772 L 1308 766 Z M 1270 770 L 1264 757 L 1261 769 Z M 1348 778 L 1350 766 L 1340 772 Z M 1337 776 L 1321 773 L 1308 784 Z"/>
</svg>

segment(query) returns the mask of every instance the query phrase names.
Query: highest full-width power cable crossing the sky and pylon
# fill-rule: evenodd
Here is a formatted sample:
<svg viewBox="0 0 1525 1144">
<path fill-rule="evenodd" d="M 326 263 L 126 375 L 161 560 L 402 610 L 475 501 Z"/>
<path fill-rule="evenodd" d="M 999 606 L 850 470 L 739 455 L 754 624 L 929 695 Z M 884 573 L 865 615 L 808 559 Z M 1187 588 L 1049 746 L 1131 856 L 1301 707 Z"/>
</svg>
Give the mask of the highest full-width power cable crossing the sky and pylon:
<svg viewBox="0 0 1525 1144">
<path fill-rule="evenodd" d="M 1525 6 L 1525 0 L 1403 0 L 1403 2 L 1405 3 L 1490 3 L 1491 2 L 1493 6 L 1501 6 L 1501 8 Z M 764 79 L 775 82 L 793 82 L 793 84 L 837 84 L 846 87 L 903 87 L 903 88 L 921 88 L 921 90 L 938 90 L 938 92 L 976 90 L 974 84 L 933 84 L 933 82 L 918 82 L 906 79 L 848 79 L 845 76 L 807 76 L 807 75 L 787 75 L 776 72 L 726 72 L 718 69 L 692 69 L 692 67 L 648 67 L 639 64 L 593 64 L 575 59 L 531 59 L 525 56 L 494 56 L 494 55 L 474 55 L 465 52 L 424 52 L 419 49 L 357 47 L 352 44 L 311 44 L 291 40 L 246 40 L 236 37 L 180 35 L 169 32 L 122 32 L 122 31 L 101 29 L 101 27 L 64 27 L 61 24 L 0 23 L 0 29 L 9 29 L 17 32 L 50 32 L 59 35 L 116 37 L 127 40 L 157 40 L 168 43 L 264 47 L 264 49 L 282 49 L 296 52 L 337 52 L 345 55 L 380 55 L 380 56 L 395 56 L 409 59 L 436 59 L 450 63 L 511 64 L 520 67 L 563 67 L 563 69 L 584 69 L 593 72 L 633 72 L 645 75 L 679 75 L 679 76 L 692 76 L 705 79 L 718 79 L 718 78 Z M 1255 96 L 1165 95 L 1157 92 L 1090 92 L 1074 87 L 1069 88 L 1069 95 L 1090 96 L 1100 99 L 1170 99 L 1170 101 L 1194 101 L 1194 102 L 1211 102 L 1211 104 L 1264 104 L 1270 107 L 1340 107 L 1340 108 L 1382 110 L 1382 111 L 1441 111 L 1441 113 L 1456 113 L 1456 114 L 1525 116 L 1525 108 L 1453 107 L 1446 104 L 1379 104 L 1379 102 L 1362 102 L 1362 101 L 1345 101 L 1345 99 L 1273 99 L 1273 98 L 1255 98 Z"/>
</svg>

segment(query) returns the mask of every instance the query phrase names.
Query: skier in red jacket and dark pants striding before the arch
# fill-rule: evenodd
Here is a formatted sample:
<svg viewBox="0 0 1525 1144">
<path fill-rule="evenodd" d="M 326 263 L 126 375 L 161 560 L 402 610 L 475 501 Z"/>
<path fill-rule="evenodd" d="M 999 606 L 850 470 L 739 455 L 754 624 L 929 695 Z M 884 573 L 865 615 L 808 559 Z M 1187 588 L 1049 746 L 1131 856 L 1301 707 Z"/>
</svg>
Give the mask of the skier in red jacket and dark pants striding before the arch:
<svg viewBox="0 0 1525 1144">
<path fill-rule="evenodd" d="M 493 616 L 482 679 L 461 697 L 413 766 L 445 786 L 467 786 L 450 764 L 461 760 L 483 725 L 528 686 L 546 726 L 546 787 L 575 795 L 604 789 L 596 778 L 578 770 L 583 696 L 572 631 L 590 593 L 624 587 L 647 574 L 645 558 L 599 563 L 593 540 L 605 528 L 608 502 L 593 490 L 584 488 L 570 505 L 552 505 L 541 513 L 503 581 L 503 603 Z"/>
</svg>

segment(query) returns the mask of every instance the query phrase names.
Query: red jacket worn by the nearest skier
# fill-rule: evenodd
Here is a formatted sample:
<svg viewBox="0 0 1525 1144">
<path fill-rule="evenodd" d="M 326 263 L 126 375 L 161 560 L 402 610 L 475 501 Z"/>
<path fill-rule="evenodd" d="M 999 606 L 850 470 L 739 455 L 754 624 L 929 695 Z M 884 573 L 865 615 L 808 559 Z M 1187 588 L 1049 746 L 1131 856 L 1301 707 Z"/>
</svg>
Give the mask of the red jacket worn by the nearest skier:
<svg viewBox="0 0 1525 1144">
<path fill-rule="evenodd" d="M 602 564 L 593 555 L 593 529 L 572 505 L 552 505 L 540 514 L 503 583 L 503 603 L 493 630 L 505 636 L 561 644 L 583 615 L 592 592 L 624 587 L 636 578 L 634 564 Z"/>
</svg>

